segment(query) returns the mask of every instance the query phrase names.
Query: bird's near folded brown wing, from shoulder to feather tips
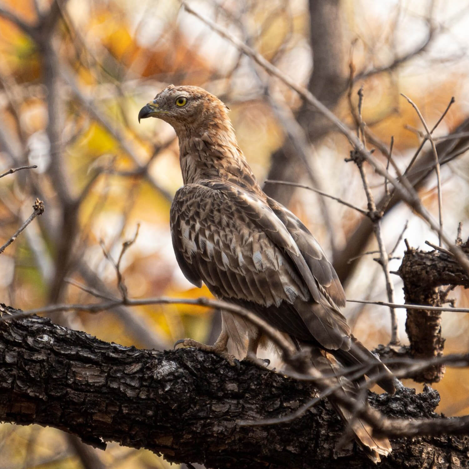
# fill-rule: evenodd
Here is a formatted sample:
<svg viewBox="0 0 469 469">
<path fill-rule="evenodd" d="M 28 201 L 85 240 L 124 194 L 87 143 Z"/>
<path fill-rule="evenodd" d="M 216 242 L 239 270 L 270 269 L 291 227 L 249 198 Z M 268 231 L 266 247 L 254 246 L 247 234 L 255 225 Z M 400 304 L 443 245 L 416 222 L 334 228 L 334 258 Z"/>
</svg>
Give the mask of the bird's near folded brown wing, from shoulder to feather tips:
<svg viewBox="0 0 469 469">
<path fill-rule="evenodd" d="M 171 208 L 178 261 L 189 280 L 251 304 L 270 324 L 327 349 L 348 349 L 349 328 L 294 238 L 252 193 L 221 182 L 188 184 Z"/>
</svg>

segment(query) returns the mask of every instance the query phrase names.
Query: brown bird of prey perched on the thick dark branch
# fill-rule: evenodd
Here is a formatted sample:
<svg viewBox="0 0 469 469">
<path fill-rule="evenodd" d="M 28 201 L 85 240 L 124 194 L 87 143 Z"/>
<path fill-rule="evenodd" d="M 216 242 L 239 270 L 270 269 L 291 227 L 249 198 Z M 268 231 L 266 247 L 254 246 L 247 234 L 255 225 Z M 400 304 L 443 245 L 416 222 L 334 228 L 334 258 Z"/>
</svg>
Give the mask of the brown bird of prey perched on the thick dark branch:
<svg viewBox="0 0 469 469">
<path fill-rule="evenodd" d="M 166 121 L 179 138 L 184 185 L 174 196 L 170 222 L 182 272 L 197 287 L 204 282 L 216 297 L 255 312 L 297 348 L 311 348 L 313 365 L 337 375 L 343 393 L 356 396 L 364 378 L 349 381 L 340 376 L 340 367 L 363 364 L 369 365 L 368 374 L 380 374 L 384 390 L 394 393 L 391 372 L 350 333 L 340 312 L 345 293 L 333 266 L 303 223 L 263 192 L 237 144 L 228 111 L 202 88 L 169 85 L 138 114 L 139 121 Z M 191 339 L 183 344 L 233 363 L 228 340 L 238 347 L 247 340 L 248 354 L 255 356 L 265 337 L 223 312 L 213 346 Z M 347 409 L 334 407 L 351 421 L 371 459 L 391 452 L 388 439 L 374 436 Z"/>
</svg>

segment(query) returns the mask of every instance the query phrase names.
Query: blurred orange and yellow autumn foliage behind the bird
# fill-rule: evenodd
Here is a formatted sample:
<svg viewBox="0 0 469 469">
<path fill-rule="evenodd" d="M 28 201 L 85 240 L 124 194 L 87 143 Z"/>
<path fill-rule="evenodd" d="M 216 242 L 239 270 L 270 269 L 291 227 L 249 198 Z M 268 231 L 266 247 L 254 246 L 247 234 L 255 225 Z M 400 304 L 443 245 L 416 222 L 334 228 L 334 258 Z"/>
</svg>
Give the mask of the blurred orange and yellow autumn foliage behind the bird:
<svg viewBox="0 0 469 469">
<path fill-rule="evenodd" d="M 356 91 L 363 86 L 367 129 L 387 148 L 394 137 L 393 158 L 401 169 L 424 129 L 400 93 L 416 102 L 430 127 L 455 97 L 434 136 L 446 136 L 468 119 L 467 1 L 203 0 L 191 6 L 309 87 L 351 126 Z M 2 0 L 0 173 L 26 164 L 38 168 L 0 180 L 0 243 L 30 215 L 36 197 L 44 201 L 45 213 L 0 255 L 1 301 L 23 310 L 95 301 L 73 282 L 118 295 L 114 268 L 100 243 L 117 259 L 137 223 L 139 235 L 121 265 L 129 296 L 210 295 L 184 279 L 171 246 L 169 207 L 182 185 L 177 139 L 162 121 L 137 122 L 139 109 L 169 83 L 203 86 L 230 106 L 240 146 L 260 181 L 302 182 L 366 207 L 356 167 L 344 162 L 350 150 L 344 137 L 178 1 Z M 458 157 L 442 167 L 444 225 L 455 237 L 461 221 L 463 238 L 469 234 L 467 142 L 462 136 Z M 298 158 L 298 145 L 308 167 Z M 375 155 L 386 163 L 380 151 Z M 369 177 L 378 197 L 383 181 L 370 170 Z M 304 189 L 265 188 L 303 219 L 334 265 L 351 257 L 352 248 L 376 249 L 368 237 L 350 244 L 363 222 L 358 212 Z M 419 194 L 437 214 L 434 178 Z M 422 220 L 399 205 L 383 219 L 388 251 L 406 220 L 404 237 L 411 246 L 438 242 Z M 393 270 L 403 250 L 400 242 Z M 340 271 L 350 299 L 386 300 L 383 274 L 372 257 L 362 256 Z M 397 276 L 394 286 L 402 302 Z M 469 305 L 464 290 L 452 296 L 458 306 Z M 386 308 L 350 303 L 346 315 L 367 346 L 389 341 Z M 179 305 L 53 317 L 103 340 L 160 349 L 183 337 L 213 340 L 217 318 L 212 311 Z M 399 318 L 405 343 L 405 310 Z M 442 318 L 445 351 L 467 352 L 467 315 L 448 312 Z M 467 371 L 448 370 L 434 385 L 442 396 L 439 410 L 467 414 L 468 383 Z M 113 444 L 106 452 L 91 450 L 55 429 L 10 424 L 0 425 L 0 466 L 169 467 L 148 451 Z"/>
</svg>

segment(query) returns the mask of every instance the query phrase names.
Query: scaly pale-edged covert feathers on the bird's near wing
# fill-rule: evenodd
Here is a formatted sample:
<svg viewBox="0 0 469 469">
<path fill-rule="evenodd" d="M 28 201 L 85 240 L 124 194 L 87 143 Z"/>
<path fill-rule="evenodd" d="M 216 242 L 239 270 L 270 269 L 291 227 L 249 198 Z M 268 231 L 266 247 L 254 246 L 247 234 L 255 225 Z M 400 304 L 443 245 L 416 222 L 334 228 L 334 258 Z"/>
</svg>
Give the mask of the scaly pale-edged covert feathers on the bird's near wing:
<svg viewBox="0 0 469 469">
<path fill-rule="evenodd" d="M 214 295 L 265 306 L 309 299 L 295 266 L 226 194 L 187 184 L 176 192 L 170 220 L 182 271 Z"/>
</svg>

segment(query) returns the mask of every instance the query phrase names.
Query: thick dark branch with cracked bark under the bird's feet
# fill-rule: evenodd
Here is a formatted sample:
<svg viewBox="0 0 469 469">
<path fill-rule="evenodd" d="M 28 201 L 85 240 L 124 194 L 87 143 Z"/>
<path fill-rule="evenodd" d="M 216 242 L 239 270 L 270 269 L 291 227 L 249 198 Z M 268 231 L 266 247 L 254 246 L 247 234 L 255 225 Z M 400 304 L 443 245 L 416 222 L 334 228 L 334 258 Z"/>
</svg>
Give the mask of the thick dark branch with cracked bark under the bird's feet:
<svg viewBox="0 0 469 469">
<path fill-rule="evenodd" d="M 3 306 L 3 310 L 7 308 Z M 289 424 L 240 427 L 289 414 L 313 389 L 192 349 L 157 352 L 106 343 L 31 317 L 0 323 L 0 420 L 40 424 L 104 447 L 118 441 L 210 468 L 373 468 L 327 402 Z M 433 417 L 439 395 L 371 395 L 388 416 Z M 380 468 L 466 468 L 469 437 L 393 439 Z"/>
</svg>

